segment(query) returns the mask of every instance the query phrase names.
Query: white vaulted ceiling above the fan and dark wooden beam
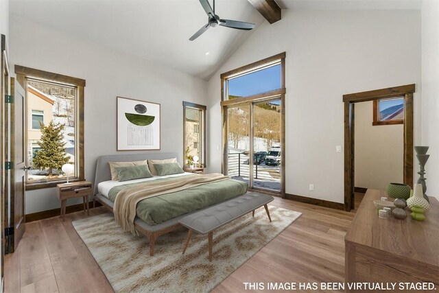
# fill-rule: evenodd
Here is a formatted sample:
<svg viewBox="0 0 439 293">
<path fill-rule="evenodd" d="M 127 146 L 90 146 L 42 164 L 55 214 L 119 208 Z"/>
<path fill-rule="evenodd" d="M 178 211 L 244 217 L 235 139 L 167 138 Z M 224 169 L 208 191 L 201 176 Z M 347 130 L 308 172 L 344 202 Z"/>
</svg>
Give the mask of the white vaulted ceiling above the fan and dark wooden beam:
<svg viewBox="0 0 439 293">
<path fill-rule="evenodd" d="M 420 9 L 420 0 L 276 0 L 283 9 Z M 216 0 L 224 19 L 265 21 L 248 0 Z M 14 15 L 208 80 L 253 31 L 207 23 L 198 0 L 10 0 Z"/>
</svg>

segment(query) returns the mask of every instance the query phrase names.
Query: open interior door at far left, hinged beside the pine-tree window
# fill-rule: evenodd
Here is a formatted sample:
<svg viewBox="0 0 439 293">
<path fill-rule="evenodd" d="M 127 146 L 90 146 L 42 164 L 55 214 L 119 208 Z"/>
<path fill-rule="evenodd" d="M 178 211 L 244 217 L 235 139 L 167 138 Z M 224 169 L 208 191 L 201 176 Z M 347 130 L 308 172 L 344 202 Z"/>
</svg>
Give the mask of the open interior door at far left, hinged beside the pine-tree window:
<svg viewBox="0 0 439 293">
<path fill-rule="evenodd" d="M 11 197 L 14 204 L 11 209 L 14 222 L 14 250 L 19 245 L 21 237 L 25 233 L 25 91 L 21 85 L 11 78 L 11 93 L 14 93 L 14 103 L 12 104 L 12 129 L 14 139 L 14 175 L 13 189 Z"/>
</svg>

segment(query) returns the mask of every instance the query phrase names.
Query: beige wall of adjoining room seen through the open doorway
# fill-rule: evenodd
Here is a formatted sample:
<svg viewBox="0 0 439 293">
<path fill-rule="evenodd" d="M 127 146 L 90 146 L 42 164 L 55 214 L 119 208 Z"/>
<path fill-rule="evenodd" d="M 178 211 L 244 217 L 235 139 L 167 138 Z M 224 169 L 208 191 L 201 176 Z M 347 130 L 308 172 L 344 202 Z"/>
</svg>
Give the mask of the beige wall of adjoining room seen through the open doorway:
<svg viewBox="0 0 439 293">
<path fill-rule="evenodd" d="M 403 124 L 372 126 L 373 102 L 355 103 L 355 187 L 403 183 Z"/>
</svg>

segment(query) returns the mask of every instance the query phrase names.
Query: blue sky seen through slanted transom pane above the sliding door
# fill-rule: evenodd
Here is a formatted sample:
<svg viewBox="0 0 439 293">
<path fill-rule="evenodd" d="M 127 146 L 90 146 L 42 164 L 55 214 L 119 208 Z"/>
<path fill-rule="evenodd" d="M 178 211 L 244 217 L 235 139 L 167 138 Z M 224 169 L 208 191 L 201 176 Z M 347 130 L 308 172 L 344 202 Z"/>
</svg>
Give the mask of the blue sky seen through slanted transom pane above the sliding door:
<svg viewBox="0 0 439 293">
<path fill-rule="evenodd" d="M 281 89 L 281 65 L 228 80 L 228 94 L 246 97 Z"/>
</svg>

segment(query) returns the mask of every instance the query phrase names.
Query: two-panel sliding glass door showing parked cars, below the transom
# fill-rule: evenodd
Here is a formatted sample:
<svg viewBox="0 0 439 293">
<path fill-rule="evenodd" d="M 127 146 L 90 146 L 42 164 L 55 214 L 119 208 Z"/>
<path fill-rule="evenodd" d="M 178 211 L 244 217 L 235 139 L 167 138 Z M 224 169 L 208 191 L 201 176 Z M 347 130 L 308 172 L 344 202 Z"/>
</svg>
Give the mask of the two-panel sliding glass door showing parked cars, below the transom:
<svg viewBox="0 0 439 293">
<path fill-rule="evenodd" d="M 281 98 L 226 107 L 227 174 L 254 189 L 281 191 Z"/>
</svg>

